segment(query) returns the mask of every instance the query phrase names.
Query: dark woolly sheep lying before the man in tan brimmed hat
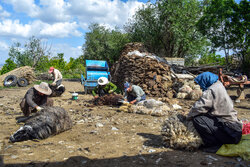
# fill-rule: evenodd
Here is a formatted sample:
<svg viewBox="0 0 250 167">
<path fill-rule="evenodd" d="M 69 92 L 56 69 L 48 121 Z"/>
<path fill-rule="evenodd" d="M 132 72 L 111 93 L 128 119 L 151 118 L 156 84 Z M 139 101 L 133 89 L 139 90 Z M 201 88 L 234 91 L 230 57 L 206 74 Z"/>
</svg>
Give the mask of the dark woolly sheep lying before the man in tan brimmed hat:
<svg viewBox="0 0 250 167">
<path fill-rule="evenodd" d="M 10 136 L 10 142 L 46 139 L 71 129 L 72 120 L 61 107 L 45 107 L 25 122 L 25 125 Z"/>
</svg>

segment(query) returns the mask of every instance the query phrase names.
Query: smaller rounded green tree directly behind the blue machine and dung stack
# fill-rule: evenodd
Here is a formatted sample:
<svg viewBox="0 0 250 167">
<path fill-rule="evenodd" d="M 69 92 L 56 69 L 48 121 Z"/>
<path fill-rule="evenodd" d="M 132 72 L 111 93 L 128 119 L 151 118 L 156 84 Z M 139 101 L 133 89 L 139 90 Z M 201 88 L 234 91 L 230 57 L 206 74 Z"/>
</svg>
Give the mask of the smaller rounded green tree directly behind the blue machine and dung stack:
<svg viewBox="0 0 250 167">
<path fill-rule="evenodd" d="M 89 29 L 90 32 L 86 33 L 86 42 L 82 47 L 84 59 L 106 60 L 108 64 L 118 60 L 123 46 L 129 42 L 127 34 L 98 24 L 90 25 Z"/>
</svg>

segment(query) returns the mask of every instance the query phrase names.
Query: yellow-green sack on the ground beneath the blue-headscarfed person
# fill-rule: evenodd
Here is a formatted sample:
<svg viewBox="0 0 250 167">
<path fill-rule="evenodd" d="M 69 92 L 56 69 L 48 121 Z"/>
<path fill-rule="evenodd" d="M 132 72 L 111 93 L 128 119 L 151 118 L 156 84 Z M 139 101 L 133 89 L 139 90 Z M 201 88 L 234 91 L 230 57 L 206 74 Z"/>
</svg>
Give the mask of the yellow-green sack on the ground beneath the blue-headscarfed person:
<svg viewBox="0 0 250 167">
<path fill-rule="evenodd" d="M 238 144 L 223 144 L 216 154 L 229 157 L 240 156 L 250 161 L 250 134 L 242 135 Z"/>
</svg>

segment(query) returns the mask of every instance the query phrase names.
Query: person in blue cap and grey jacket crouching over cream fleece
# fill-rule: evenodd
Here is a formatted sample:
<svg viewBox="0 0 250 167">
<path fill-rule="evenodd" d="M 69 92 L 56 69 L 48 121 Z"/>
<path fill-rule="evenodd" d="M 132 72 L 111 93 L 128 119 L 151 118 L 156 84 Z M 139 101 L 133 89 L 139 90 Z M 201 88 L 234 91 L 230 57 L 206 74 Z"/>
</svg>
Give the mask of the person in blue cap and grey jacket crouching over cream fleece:
<svg viewBox="0 0 250 167">
<path fill-rule="evenodd" d="M 139 101 L 146 100 L 145 92 L 140 86 L 132 85 L 128 82 L 124 84 L 125 88 L 125 100 L 130 104 L 135 104 Z"/>
</svg>

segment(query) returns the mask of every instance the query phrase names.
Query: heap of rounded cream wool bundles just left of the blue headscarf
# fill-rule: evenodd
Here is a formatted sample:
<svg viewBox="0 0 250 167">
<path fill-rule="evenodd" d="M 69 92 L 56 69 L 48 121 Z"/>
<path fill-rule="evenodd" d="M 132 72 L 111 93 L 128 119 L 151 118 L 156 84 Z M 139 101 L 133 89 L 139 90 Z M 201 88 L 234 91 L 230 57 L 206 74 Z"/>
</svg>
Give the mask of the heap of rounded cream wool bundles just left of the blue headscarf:
<svg viewBox="0 0 250 167">
<path fill-rule="evenodd" d="M 179 88 L 176 97 L 178 99 L 192 99 L 197 100 L 201 97 L 202 90 L 200 86 L 195 84 L 194 81 L 184 82 Z"/>
</svg>

